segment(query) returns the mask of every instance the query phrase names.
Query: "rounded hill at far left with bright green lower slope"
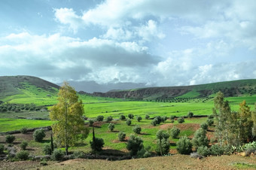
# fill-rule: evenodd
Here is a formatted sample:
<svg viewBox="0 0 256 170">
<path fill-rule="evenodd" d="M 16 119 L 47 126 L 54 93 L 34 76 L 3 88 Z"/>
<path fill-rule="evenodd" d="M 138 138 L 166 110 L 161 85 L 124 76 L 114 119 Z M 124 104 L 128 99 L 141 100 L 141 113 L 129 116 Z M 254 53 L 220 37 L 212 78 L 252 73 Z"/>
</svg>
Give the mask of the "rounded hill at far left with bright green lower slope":
<svg viewBox="0 0 256 170">
<path fill-rule="evenodd" d="M 0 77 L 0 101 L 27 103 L 39 100 L 53 102 L 56 98 L 59 86 L 32 76 L 1 76 Z M 45 104 L 48 104 L 45 102 Z"/>
</svg>

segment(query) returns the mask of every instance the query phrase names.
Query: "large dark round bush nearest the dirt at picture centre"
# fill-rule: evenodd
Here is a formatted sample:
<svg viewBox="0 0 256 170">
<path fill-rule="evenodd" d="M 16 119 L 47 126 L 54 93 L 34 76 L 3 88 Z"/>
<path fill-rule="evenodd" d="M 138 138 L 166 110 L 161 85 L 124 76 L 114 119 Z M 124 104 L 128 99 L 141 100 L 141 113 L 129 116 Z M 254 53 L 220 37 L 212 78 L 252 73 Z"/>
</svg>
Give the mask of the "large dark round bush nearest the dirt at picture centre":
<svg viewBox="0 0 256 170">
<path fill-rule="evenodd" d="M 126 148 L 130 150 L 130 155 L 135 156 L 139 150 L 143 148 L 142 138 L 135 137 L 134 135 L 130 135 L 129 140 L 127 141 Z"/>
</svg>

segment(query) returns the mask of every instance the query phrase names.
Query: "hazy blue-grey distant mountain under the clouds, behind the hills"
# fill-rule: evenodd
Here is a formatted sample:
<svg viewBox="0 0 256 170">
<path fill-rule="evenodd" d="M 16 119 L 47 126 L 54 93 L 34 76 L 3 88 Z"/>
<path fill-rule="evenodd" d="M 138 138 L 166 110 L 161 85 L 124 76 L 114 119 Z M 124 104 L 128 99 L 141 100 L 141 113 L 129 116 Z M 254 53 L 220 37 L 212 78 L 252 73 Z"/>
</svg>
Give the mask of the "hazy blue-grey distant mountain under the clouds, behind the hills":
<svg viewBox="0 0 256 170">
<path fill-rule="evenodd" d="M 101 92 L 106 93 L 110 90 L 129 90 L 136 88 L 148 87 L 145 83 L 104 83 L 99 84 L 95 81 L 68 81 L 72 87 L 77 91 L 84 91 L 86 93 Z M 62 83 L 57 83 L 59 86 Z"/>
</svg>

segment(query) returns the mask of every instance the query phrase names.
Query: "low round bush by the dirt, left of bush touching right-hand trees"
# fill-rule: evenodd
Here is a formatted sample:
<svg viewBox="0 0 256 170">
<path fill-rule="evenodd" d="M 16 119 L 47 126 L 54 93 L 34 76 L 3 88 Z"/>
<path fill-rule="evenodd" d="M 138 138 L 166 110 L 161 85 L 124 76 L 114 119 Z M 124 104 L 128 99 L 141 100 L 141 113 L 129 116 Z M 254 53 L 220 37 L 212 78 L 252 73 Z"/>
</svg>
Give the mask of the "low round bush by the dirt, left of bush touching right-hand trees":
<svg viewBox="0 0 256 170">
<path fill-rule="evenodd" d="M 190 142 L 189 138 L 187 138 L 187 136 L 182 136 L 177 141 L 176 144 L 177 144 L 178 153 L 189 154 L 192 152 L 192 143 Z"/>
</svg>

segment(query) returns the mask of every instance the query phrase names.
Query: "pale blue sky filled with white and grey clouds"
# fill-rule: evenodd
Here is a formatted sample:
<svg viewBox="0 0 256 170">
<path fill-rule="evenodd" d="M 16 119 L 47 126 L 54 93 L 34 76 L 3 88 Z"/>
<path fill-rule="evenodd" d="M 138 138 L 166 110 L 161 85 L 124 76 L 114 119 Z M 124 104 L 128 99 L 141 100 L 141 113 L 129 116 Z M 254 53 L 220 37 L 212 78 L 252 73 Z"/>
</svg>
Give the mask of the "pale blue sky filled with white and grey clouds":
<svg viewBox="0 0 256 170">
<path fill-rule="evenodd" d="M 181 86 L 256 78 L 254 0 L 1 0 L 0 76 Z"/>
</svg>

